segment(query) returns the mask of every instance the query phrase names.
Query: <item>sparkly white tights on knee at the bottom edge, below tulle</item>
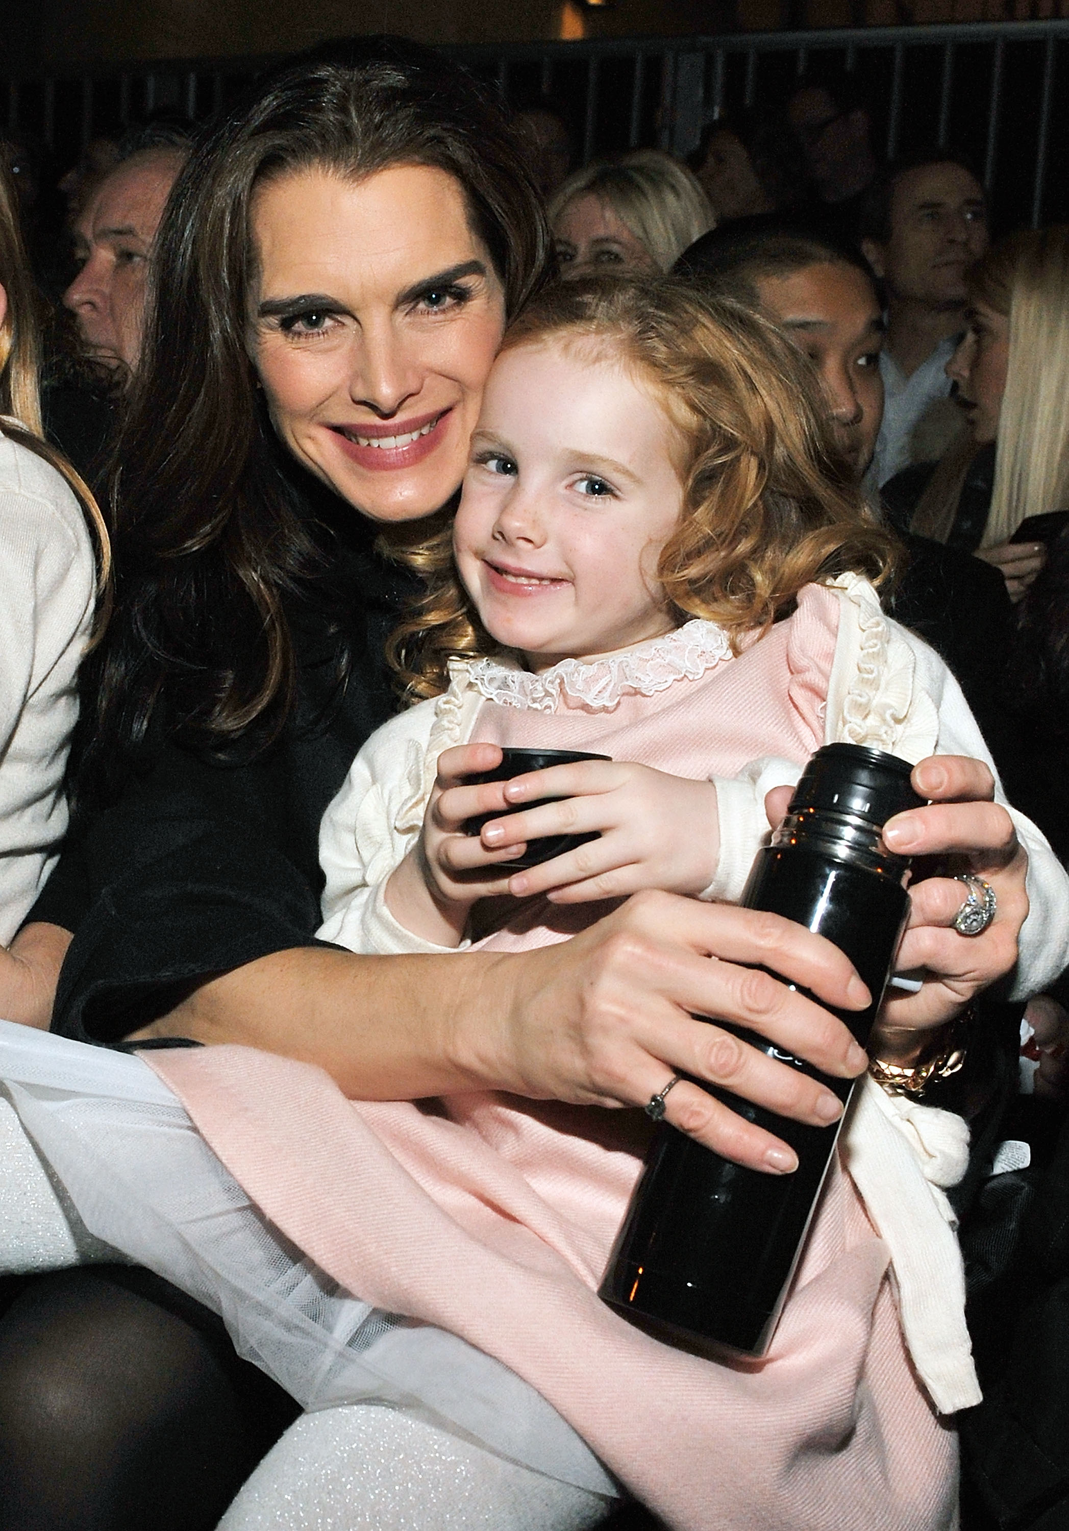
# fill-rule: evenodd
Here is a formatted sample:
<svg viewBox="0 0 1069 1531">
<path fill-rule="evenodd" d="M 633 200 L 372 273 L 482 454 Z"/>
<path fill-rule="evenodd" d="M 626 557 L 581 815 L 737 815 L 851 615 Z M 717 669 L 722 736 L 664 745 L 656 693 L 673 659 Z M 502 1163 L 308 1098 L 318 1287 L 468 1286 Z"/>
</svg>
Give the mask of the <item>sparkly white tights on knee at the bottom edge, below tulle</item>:
<svg viewBox="0 0 1069 1531">
<path fill-rule="evenodd" d="M 302 1415 L 219 1531 L 587 1531 L 613 1502 L 392 1409 Z"/>
</svg>

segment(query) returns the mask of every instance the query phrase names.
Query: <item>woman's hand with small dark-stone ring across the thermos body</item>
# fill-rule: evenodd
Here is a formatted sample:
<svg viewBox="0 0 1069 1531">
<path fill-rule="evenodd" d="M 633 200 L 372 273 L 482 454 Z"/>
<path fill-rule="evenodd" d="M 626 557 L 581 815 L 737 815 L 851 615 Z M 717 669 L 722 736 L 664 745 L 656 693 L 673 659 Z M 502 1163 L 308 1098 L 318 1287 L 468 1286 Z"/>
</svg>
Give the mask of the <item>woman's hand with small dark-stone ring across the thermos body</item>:
<svg viewBox="0 0 1069 1531">
<path fill-rule="evenodd" d="M 832 1090 L 715 1024 L 755 1030 L 835 1078 L 859 1075 L 867 1058 L 847 1027 L 787 984 L 841 1009 L 868 1004 L 842 952 L 801 925 L 639 893 L 573 940 L 496 957 L 479 984 L 495 997 L 490 1035 L 482 1009 L 469 1038 L 481 1053 L 476 1069 L 496 1089 L 528 1098 L 645 1105 L 672 1075 L 686 1073 L 827 1127 L 841 1115 Z M 688 1081 L 665 1105 L 672 1125 L 738 1164 L 780 1174 L 795 1168 L 786 1144 Z"/>
</svg>

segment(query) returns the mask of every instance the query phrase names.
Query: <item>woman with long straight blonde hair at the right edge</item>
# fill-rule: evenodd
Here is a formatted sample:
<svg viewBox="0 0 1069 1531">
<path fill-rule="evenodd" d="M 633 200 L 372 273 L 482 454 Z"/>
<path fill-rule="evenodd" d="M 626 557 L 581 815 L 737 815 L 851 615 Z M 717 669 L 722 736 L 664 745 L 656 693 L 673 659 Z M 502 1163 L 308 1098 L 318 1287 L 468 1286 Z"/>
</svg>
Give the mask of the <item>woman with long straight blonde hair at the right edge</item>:
<svg viewBox="0 0 1069 1531">
<path fill-rule="evenodd" d="M 1069 510 L 1069 227 L 1012 234 L 966 285 L 969 328 L 946 372 L 968 433 L 928 470 L 908 524 L 992 563 L 1020 600 L 1046 545 L 1014 536 L 1031 516 Z M 899 475 L 885 498 L 905 490 L 908 511 L 916 475 Z"/>
</svg>

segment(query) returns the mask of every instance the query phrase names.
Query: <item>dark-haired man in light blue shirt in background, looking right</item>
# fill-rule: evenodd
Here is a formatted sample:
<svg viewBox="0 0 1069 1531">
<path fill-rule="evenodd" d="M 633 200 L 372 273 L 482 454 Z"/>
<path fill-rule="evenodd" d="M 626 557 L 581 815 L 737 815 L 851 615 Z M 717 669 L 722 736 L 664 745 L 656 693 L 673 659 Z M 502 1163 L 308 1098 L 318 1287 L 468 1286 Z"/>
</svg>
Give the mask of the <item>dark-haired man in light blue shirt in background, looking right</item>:
<svg viewBox="0 0 1069 1531">
<path fill-rule="evenodd" d="M 988 248 L 983 187 L 966 159 L 933 149 L 896 161 L 861 205 L 861 248 L 884 285 L 884 424 L 873 475 L 934 462 L 963 421 L 945 404 L 965 328 L 965 273 Z"/>
</svg>

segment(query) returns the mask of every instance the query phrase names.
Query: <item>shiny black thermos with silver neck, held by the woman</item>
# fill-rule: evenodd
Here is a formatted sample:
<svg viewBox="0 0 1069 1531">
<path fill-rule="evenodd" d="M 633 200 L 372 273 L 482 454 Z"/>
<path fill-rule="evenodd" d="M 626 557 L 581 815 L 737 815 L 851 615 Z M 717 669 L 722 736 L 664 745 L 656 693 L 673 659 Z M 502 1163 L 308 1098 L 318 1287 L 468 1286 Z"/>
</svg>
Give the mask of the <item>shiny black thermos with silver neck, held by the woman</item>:
<svg viewBox="0 0 1069 1531">
<path fill-rule="evenodd" d="M 827 935 L 861 974 L 873 1003 L 836 1010 L 864 1047 L 908 912 L 908 859 L 881 830 L 922 801 L 907 761 L 827 744 L 809 761 L 787 818 L 754 862 L 743 906 L 770 909 Z M 853 1081 L 830 1079 L 752 1032 L 761 1052 L 819 1078 L 845 1102 Z M 695 1081 L 700 1082 L 700 1081 Z M 806 1127 L 704 1084 L 798 1154 L 793 1174 L 744 1170 L 662 1122 L 610 1258 L 600 1295 L 645 1329 L 701 1347 L 763 1355 L 839 1134 Z"/>
</svg>

